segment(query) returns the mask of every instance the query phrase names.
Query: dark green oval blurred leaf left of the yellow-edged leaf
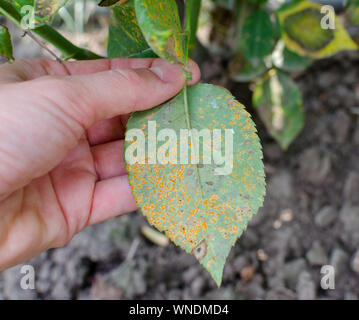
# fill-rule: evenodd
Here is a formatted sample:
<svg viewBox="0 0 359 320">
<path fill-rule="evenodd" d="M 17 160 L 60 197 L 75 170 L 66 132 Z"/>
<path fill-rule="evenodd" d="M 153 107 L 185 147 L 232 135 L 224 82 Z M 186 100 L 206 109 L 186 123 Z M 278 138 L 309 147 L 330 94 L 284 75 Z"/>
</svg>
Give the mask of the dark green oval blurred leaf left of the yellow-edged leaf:
<svg viewBox="0 0 359 320">
<path fill-rule="evenodd" d="M 253 66 L 257 66 L 272 52 L 275 37 L 275 26 L 269 14 L 262 9 L 256 10 L 244 22 L 240 50 Z"/>
</svg>

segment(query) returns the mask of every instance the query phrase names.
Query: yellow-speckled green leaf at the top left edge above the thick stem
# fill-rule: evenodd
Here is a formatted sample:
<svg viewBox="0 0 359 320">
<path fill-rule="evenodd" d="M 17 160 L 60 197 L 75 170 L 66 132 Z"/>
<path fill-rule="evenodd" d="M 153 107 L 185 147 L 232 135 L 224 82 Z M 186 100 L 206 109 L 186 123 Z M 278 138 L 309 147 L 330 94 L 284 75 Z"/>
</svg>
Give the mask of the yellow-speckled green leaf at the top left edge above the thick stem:
<svg viewBox="0 0 359 320">
<path fill-rule="evenodd" d="M 68 0 L 14 0 L 14 4 L 22 17 L 33 18 L 34 26 L 38 27 L 51 21 L 51 18 L 66 5 Z M 29 7 L 26 7 L 29 6 Z M 29 9 L 33 8 L 31 12 Z"/>
</svg>

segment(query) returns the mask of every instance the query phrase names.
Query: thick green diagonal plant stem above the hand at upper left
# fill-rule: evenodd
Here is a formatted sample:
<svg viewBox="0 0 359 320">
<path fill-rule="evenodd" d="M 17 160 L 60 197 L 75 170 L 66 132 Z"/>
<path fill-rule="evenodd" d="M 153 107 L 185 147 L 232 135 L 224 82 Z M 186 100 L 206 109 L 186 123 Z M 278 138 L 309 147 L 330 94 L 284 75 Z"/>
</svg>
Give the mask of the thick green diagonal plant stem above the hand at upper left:
<svg viewBox="0 0 359 320">
<path fill-rule="evenodd" d="M 17 27 L 23 29 L 21 27 L 22 16 L 11 3 L 5 0 L 0 0 L 0 14 L 11 20 Z M 49 25 L 42 25 L 34 28 L 31 32 L 51 43 L 61 51 L 65 59 L 92 60 L 103 58 L 96 53 L 75 46 Z"/>
</svg>

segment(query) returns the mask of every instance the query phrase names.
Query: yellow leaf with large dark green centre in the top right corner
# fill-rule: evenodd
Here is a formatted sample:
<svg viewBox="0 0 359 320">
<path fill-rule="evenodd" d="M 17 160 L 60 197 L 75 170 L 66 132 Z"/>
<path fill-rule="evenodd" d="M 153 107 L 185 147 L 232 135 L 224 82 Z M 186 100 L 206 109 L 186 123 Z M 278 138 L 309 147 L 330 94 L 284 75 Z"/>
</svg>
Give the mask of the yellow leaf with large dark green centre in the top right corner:
<svg viewBox="0 0 359 320">
<path fill-rule="evenodd" d="M 278 10 L 282 38 L 288 49 L 317 59 L 331 56 L 340 50 L 358 49 L 335 15 L 335 28 L 322 28 L 324 14 L 321 8 L 316 3 L 295 0 Z"/>
</svg>

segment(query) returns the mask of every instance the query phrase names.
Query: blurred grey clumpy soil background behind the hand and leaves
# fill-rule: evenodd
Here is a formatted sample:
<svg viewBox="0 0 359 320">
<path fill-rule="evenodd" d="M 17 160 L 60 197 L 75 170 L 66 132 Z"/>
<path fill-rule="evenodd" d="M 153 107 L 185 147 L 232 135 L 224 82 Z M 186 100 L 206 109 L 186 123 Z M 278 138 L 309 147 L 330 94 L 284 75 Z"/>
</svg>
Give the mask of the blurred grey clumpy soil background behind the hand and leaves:
<svg viewBox="0 0 359 320">
<path fill-rule="evenodd" d="M 338 14 L 344 8 L 342 1 L 326 2 Z M 267 195 L 231 251 L 222 286 L 194 257 L 149 234 L 137 212 L 87 228 L 66 247 L 26 263 L 35 268 L 35 290 L 20 288 L 21 265 L 0 273 L 0 299 L 359 299 L 359 51 L 291 72 L 306 122 L 283 151 L 252 106 L 253 83 L 231 74 L 226 5 L 203 2 L 194 59 L 204 82 L 228 88 L 252 114 Z M 342 21 L 358 39 L 358 28 Z M 71 1 L 53 21 L 66 38 L 100 55 L 106 55 L 108 23 L 109 9 L 90 0 Z M 50 57 L 7 25 L 15 58 Z M 320 286 L 327 264 L 336 270 L 334 290 Z"/>
</svg>

